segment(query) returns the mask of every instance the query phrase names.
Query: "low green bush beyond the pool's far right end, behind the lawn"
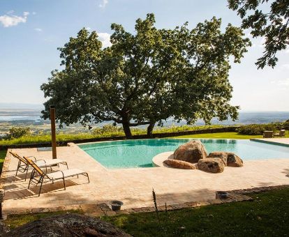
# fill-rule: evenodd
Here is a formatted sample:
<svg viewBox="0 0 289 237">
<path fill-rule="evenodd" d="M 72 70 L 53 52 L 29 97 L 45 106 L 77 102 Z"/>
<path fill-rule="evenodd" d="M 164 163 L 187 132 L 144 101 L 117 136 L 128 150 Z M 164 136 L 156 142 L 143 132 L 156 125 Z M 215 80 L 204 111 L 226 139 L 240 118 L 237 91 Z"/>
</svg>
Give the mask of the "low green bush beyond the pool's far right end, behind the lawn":
<svg viewBox="0 0 289 237">
<path fill-rule="evenodd" d="M 262 135 L 264 131 L 277 130 L 278 129 L 277 126 L 278 123 L 250 124 L 238 128 L 237 132 L 242 135 Z"/>
</svg>

